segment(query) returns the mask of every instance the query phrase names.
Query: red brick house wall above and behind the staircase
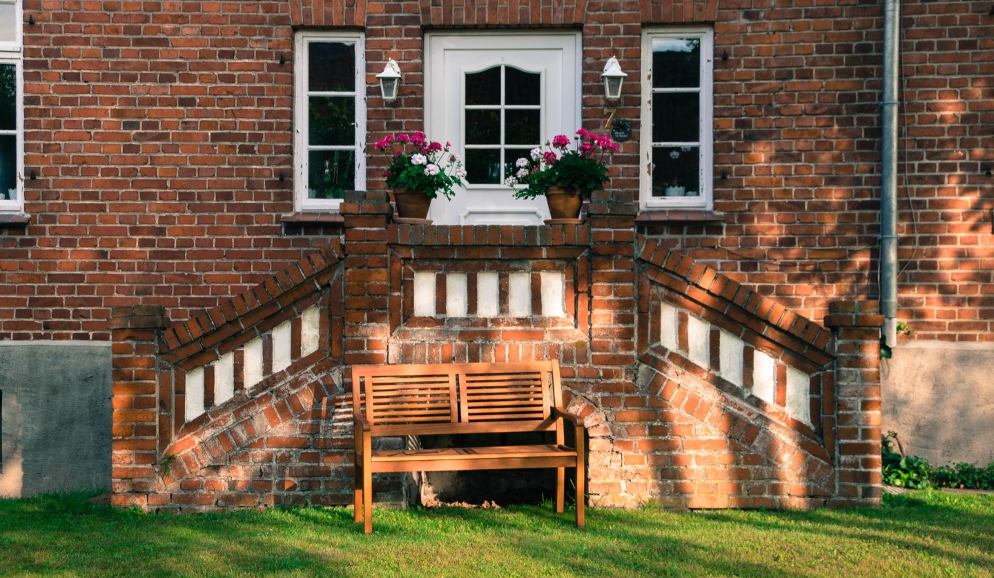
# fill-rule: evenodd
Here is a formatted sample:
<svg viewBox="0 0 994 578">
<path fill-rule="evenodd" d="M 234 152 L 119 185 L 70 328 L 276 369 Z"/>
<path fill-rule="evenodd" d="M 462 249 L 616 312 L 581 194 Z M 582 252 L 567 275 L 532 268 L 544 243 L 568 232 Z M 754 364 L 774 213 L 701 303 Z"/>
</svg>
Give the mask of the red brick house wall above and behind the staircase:
<svg viewBox="0 0 994 578">
<path fill-rule="evenodd" d="M 917 338 L 990 340 L 994 95 L 980 79 L 994 17 L 983 2 L 903 9 L 900 315 Z M 618 114 L 636 138 L 595 199 L 620 215 L 637 196 L 642 25 L 714 21 L 725 220 L 644 232 L 820 319 L 831 300 L 877 295 L 881 10 L 841 0 L 53 10 L 26 0 L 32 221 L 0 225 L 0 338 L 105 340 L 113 306 L 159 304 L 185 319 L 327 242 L 281 233 L 279 216 L 293 210 L 293 26 L 365 27 L 373 140 L 421 128 L 423 30 L 581 26 L 586 128 L 603 120 L 597 63 L 616 55 L 629 73 Z M 388 58 L 405 82 L 384 104 L 374 74 Z M 382 186 L 377 162 L 371 189 Z"/>
</svg>

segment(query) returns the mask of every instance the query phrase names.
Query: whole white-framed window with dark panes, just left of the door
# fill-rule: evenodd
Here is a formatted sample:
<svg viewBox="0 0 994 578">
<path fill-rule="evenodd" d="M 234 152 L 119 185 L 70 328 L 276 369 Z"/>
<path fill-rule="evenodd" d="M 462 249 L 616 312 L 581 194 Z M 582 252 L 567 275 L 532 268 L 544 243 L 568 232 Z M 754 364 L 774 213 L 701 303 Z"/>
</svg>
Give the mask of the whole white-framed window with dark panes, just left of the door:
<svg viewBox="0 0 994 578">
<path fill-rule="evenodd" d="M 302 32 L 296 55 L 296 208 L 338 211 L 345 191 L 366 188 L 363 37 Z"/>
</svg>

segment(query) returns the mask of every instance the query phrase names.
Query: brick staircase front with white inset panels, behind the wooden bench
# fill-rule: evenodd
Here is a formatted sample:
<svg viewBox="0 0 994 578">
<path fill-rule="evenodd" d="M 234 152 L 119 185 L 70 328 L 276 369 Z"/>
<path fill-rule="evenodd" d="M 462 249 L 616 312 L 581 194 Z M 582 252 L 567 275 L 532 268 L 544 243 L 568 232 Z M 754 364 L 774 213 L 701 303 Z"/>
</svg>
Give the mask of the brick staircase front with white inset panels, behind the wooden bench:
<svg viewBox="0 0 994 578">
<path fill-rule="evenodd" d="M 588 428 L 592 505 L 879 503 L 876 304 L 836 304 L 833 339 L 655 239 L 640 237 L 635 251 L 597 242 L 588 225 L 395 224 L 385 194 L 346 201 L 344 250 L 333 243 L 169 328 L 161 307 L 115 310 L 115 504 L 348 504 L 353 400 L 343 361 L 543 359 L 561 361 L 565 401 Z M 615 254 L 620 247 L 630 254 Z M 532 281 L 550 271 L 555 289 Z M 485 274 L 496 281 L 487 315 L 485 284 L 475 296 L 468 289 Z M 435 291 L 455 275 L 466 277 L 467 303 L 454 315 Z M 433 299 L 424 310 L 421 291 Z M 528 316 L 512 314 L 520 291 L 538 307 Z M 314 306 L 321 329 L 307 353 L 293 336 Z M 667 308 L 678 311 L 667 317 Z M 277 367 L 282 326 L 288 359 Z M 234 393 L 215 403 L 220 364 L 233 353 Z M 243 369 L 251 356 L 261 360 L 257 382 Z M 209 377 L 199 378 L 203 413 L 193 415 L 183 407 L 197 371 Z M 377 482 L 398 488 L 393 476 Z"/>
</svg>

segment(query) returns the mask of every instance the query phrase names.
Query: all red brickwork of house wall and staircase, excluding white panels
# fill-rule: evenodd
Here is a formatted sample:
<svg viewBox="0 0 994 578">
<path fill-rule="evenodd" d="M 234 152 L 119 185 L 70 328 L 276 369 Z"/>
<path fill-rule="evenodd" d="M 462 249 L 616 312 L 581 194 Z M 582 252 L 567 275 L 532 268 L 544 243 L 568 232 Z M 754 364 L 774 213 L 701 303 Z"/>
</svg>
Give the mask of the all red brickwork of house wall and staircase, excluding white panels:
<svg viewBox="0 0 994 578">
<path fill-rule="evenodd" d="M 903 10 L 900 316 L 916 338 L 991 341 L 994 93 L 985 79 L 994 16 L 981 2 L 908 1 Z M 518 357 L 560 359 L 585 400 L 578 406 L 588 403 L 595 502 L 873 502 L 880 391 L 878 334 L 868 328 L 878 320 L 855 306 L 828 314 L 833 301 L 878 296 L 882 14 L 879 2 L 845 0 L 25 0 L 31 220 L 0 222 L 0 339 L 113 340 L 121 504 L 340 502 L 349 442 L 336 437 L 347 434 L 332 415 L 351 401 L 337 367 Z M 719 215 L 690 221 L 638 215 L 641 34 L 680 24 L 715 31 Z M 604 108 L 616 108 L 635 135 L 613 155 L 608 188 L 582 226 L 390 225 L 375 193 L 343 206 L 344 225 L 284 222 L 294 212 L 293 35 L 304 28 L 365 33 L 369 142 L 422 128 L 421 48 L 436 29 L 580 30 L 583 126 L 599 130 Z M 629 74 L 616 104 L 599 79 L 610 56 Z M 375 74 L 390 58 L 404 82 L 384 103 Z M 378 162 L 371 155 L 371 191 L 383 186 Z M 329 277 L 297 289 L 324 266 L 340 285 Z M 565 270 L 573 309 L 568 322 L 542 327 L 417 319 L 406 299 L 414 273 L 427 270 Z M 260 297 L 288 288 L 307 295 L 265 309 Z M 229 301 L 240 294 L 246 311 Z M 241 416 L 271 403 L 265 432 L 209 412 L 198 424 L 206 429 L 187 432 L 200 445 L 172 446 L 186 438 L 182 424 L 162 422 L 179 392 L 165 375 L 282 321 L 263 317 L 295 319 L 305 297 L 327 303 L 324 355 L 230 408 Z M 680 319 L 697 312 L 738 328 L 777 367 L 818 374 L 817 427 L 792 427 L 775 399 L 744 398 L 686 355 L 664 355 L 651 315 L 664 302 Z M 821 325 L 838 328 L 831 344 Z M 195 353 L 166 356 L 194 343 Z M 184 474 L 157 478 L 164 456 L 182 452 L 174 466 Z M 284 463 L 297 469 L 279 470 Z M 247 490 L 255 498 L 242 497 Z"/>
</svg>

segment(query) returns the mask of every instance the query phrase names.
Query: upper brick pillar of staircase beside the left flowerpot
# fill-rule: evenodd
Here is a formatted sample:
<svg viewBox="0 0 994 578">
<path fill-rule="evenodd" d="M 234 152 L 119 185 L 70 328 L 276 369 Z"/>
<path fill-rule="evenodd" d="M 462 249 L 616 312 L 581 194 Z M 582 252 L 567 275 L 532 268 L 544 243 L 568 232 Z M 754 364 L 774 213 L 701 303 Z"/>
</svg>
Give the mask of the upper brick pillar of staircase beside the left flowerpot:
<svg viewBox="0 0 994 578">
<path fill-rule="evenodd" d="M 345 364 L 386 363 L 390 279 L 386 192 L 349 192 L 345 219 Z"/>
</svg>

